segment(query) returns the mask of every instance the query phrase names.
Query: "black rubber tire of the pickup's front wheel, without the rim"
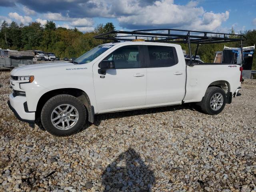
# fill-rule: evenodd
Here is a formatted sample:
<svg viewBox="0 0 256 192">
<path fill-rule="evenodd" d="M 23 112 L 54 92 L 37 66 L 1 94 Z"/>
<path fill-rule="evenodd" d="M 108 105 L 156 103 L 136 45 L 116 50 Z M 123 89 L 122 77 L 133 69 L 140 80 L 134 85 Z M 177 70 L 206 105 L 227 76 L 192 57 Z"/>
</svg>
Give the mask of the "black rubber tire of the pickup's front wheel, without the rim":
<svg viewBox="0 0 256 192">
<path fill-rule="evenodd" d="M 60 130 L 51 122 L 52 111 L 61 104 L 70 104 L 78 111 L 78 121 L 68 130 Z M 86 122 L 86 108 L 84 104 L 76 97 L 68 94 L 61 94 L 50 98 L 43 106 L 41 112 L 41 121 L 44 128 L 55 136 L 68 136 L 79 132 Z"/>
</svg>

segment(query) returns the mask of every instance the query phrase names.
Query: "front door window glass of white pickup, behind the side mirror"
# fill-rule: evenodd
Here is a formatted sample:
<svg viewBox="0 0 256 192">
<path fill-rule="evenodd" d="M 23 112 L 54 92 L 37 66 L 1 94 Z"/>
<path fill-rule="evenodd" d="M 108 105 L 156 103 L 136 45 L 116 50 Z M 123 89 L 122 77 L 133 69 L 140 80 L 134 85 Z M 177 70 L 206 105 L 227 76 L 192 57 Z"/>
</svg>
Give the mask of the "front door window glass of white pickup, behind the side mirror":
<svg viewBox="0 0 256 192">
<path fill-rule="evenodd" d="M 140 68 L 138 46 L 124 46 L 109 54 L 104 60 L 114 61 L 115 68 Z"/>
</svg>

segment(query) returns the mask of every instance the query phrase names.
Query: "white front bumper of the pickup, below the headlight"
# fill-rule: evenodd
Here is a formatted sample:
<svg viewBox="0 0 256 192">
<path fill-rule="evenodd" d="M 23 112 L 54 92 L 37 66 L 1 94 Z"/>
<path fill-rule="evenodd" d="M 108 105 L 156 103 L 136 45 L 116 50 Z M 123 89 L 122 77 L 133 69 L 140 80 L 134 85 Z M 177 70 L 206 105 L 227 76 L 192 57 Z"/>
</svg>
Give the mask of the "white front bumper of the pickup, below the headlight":
<svg viewBox="0 0 256 192">
<path fill-rule="evenodd" d="M 10 109 L 14 112 L 18 120 L 28 122 L 30 124 L 34 123 L 36 112 L 27 112 L 24 108 L 24 103 L 26 103 L 25 96 L 13 96 L 9 95 L 8 105 Z"/>
</svg>

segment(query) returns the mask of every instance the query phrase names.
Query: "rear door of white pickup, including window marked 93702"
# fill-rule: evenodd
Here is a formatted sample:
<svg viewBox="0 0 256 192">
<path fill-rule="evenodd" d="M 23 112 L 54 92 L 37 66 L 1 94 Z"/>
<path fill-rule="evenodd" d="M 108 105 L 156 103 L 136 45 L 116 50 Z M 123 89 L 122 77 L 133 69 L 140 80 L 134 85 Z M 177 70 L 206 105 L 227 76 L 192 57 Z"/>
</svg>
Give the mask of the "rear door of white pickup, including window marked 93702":
<svg viewBox="0 0 256 192">
<path fill-rule="evenodd" d="M 185 94 L 186 72 L 185 63 L 178 60 L 176 48 L 145 46 L 145 52 L 146 105 L 180 104 Z"/>
</svg>

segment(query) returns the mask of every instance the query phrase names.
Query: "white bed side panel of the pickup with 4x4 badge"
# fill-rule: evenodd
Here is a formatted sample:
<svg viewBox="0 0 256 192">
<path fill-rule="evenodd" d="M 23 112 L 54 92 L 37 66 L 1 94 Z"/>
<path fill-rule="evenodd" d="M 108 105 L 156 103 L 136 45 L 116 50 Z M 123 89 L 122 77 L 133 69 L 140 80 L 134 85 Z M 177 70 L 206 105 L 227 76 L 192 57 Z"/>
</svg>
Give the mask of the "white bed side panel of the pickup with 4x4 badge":
<svg viewBox="0 0 256 192">
<path fill-rule="evenodd" d="M 226 93 L 234 92 L 240 86 L 240 65 L 223 63 L 194 63 L 186 65 L 186 95 L 184 102 L 200 102 L 206 89 L 216 82 L 222 82 Z"/>
</svg>

